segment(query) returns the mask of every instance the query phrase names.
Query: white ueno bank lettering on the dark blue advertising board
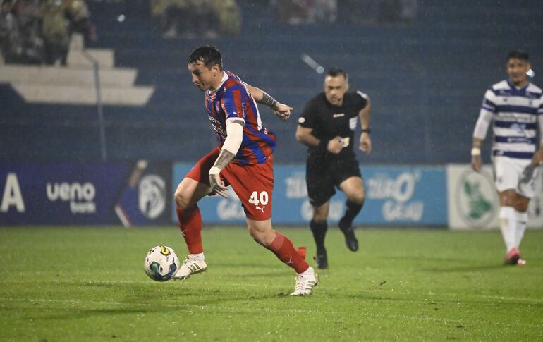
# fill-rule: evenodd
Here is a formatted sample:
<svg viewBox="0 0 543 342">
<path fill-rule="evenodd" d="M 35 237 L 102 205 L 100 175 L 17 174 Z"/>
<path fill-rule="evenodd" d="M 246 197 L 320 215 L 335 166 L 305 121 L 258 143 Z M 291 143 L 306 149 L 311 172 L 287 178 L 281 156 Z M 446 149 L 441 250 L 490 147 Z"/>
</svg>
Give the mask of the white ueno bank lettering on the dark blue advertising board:
<svg viewBox="0 0 543 342">
<path fill-rule="evenodd" d="M 73 214 L 93 214 L 96 212 L 94 196 L 96 188 L 92 183 L 50 183 L 46 185 L 47 198 L 51 202 L 62 201 L 70 203 Z"/>
</svg>

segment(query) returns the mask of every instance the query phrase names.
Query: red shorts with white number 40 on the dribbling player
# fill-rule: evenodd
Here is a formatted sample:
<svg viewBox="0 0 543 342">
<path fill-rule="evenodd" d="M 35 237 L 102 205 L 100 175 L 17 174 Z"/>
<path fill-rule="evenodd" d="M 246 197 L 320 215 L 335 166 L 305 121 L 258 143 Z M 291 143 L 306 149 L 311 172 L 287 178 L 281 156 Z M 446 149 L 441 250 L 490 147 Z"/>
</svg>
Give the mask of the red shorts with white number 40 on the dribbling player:
<svg viewBox="0 0 543 342">
<path fill-rule="evenodd" d="M 209 169 L 217 157 L 219 147 L 200 159 L 185 177 L 209 185 Z M 233 162 L 221 171 L 221 179 L 232 185 L 238 195 L 245 215 L 249 219 L 264 221 L 271 217 L 271 192 L 274 190 L 274 157 L 268 157 L 266 164 L 239 165 Z"/>
</svg>

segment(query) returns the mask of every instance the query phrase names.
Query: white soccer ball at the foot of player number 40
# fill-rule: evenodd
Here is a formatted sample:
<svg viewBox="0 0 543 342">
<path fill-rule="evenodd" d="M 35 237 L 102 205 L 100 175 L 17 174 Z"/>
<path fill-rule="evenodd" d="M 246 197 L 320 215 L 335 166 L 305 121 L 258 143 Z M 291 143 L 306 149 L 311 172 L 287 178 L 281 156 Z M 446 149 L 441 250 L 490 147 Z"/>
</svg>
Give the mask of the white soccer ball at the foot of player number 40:
<svg viewBox="0 0 543 342">
<path fill-rule="evenodd" d="M 143 268 L 151 279 L 168 281 L 179 269 L 179 258 L 168 246 L 153 247 L 147 252 Z"/>
</svg>

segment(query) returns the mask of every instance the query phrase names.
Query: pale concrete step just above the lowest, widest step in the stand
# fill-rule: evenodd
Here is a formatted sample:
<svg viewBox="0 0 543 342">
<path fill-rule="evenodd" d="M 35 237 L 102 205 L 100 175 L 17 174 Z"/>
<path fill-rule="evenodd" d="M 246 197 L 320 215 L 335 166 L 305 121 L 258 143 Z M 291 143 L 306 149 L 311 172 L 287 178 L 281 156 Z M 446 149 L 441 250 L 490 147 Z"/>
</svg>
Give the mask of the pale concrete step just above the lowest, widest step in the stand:
<svg viewBox="0 0 543 342">
<path fill-rule="evenodd" d="M 100 68 L 102 86 L 130 87 L 138 71 L 134 68 Z M 63 68 L 58 66 L 0 66 L 0 82 L 43 85 L 94 85 L 92 67 Z"/>
</svg>

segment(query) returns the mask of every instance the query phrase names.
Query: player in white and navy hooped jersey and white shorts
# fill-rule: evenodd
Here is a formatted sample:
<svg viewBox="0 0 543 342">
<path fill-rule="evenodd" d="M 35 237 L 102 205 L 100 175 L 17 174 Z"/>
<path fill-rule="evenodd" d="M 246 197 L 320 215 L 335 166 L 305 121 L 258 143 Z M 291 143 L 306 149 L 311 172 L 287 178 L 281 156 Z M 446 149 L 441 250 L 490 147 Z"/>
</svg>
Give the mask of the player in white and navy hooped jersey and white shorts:
<svg viewBox="0 0 543 342">
<path fill-rule="evenodd" d="M 537 166 L 543 163 L 542 90 L 530 83 L 528 54 L 511 51 L 507 56 L 508 80 L 492 85 L 484 94 L 473 132 L 472 167 L 480 171 L 481 144 L 491 121 L 492 164 L 500 202 L 500 228 L 506 244 L 506 264 L 525 264 L 520 255 L 527 209 L 535 191 Z M 541 139 L 537 141 L 537 127 Z"/>
</svg>

